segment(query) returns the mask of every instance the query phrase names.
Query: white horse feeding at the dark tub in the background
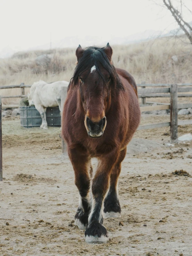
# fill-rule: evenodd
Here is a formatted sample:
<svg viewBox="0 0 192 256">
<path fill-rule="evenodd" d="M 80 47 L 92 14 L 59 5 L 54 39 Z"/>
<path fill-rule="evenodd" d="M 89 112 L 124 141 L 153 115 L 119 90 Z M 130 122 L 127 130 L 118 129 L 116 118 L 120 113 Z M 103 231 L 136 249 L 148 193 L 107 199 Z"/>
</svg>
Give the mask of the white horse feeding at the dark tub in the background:
<svg viewBox="0 0 192 256">
<path fill-rule="evenodd" d="M 40 128 L 47 128 L 46 108 L 59 106 L 61 111 L 61 87 L 68 86 L 66 81 L 58 81 L 51 84 L 40 80 L 33 83 L 30 93 L 28 93 L 29 106 L 35 105 L 42 117 Z"/>
</svg>

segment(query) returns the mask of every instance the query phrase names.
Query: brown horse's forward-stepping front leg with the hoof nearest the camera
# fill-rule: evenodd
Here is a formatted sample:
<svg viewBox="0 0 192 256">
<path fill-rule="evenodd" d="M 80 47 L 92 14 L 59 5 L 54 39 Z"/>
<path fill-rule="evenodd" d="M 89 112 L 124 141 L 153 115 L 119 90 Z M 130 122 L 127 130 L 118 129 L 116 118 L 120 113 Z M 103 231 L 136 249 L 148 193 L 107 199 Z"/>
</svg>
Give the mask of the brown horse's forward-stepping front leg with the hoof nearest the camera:
<svg viewBox="0 0 192 256">
<path fill-rule="evenodd" d="M 118 157 L 118 152 L 111 152 L 99 158 L 97 171 L 92 180 L 92 207 L 89 224 L 85 230 L 85 241 L 88 243 L 104 243 L 107 241 L 107 230 L 102 225 L 103 199 L 109 186 L 110 173 Z"/>
</svg>

